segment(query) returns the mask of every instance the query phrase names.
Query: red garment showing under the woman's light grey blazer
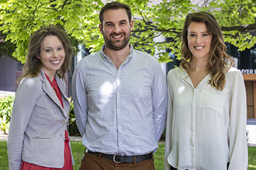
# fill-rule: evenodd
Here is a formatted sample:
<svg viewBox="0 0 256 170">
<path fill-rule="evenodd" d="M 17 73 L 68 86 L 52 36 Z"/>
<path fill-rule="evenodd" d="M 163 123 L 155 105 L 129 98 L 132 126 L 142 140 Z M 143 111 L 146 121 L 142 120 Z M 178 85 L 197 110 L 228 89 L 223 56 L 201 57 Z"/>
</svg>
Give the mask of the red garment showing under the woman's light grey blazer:
<svg viewBox="0 0 256 170">
<path fill-rule="evenodd" d="M 50 82 L 51 87 L 54 88 L 56 95 L 58 97 L 58 99 L 61 102 L 61 105 L 63 107 L 63 102 L 62 102 L 62 97 L 61 97 L 61 92 L 59 87 L 57 86 L 57 82 L 54 80 L 51 82 L 49 79 L 49 76 L 47 76 L 47 74 L 45 74 L 45 76 L 47 77 L 47 80 Z M 23 162 L 22 161 L 22 165 L 20 170 L 73 170 L 73 166 L 72 166 L 72 158 L 71 158 L 71 148 L 69 148 L 68 142 L 69 142 L 69 138 L 68 138 L 68 132 L 65 131 L 65 144 L 64 144 L 64 166 L 63 168 L 48 168 L 48 167 L 43 167 L 43 166 L 39 166 L 39 165 L 34 165 L 34 164 L 30 164 L 28 162 Z"/>
</svg>

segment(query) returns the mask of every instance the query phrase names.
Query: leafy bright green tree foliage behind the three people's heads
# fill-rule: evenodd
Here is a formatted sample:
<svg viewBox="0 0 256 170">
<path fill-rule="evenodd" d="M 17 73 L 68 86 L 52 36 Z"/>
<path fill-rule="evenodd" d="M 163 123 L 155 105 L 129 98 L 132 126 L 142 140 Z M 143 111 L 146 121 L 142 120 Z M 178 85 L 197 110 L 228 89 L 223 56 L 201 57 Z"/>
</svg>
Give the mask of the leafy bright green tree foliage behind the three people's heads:
<svg viewBox="0 0 256 170">
<path fill-rule="evenodd" d="M 102 0 L 103 1 L 103 0 Z M 255 0 L 123 0 L 133 12 L 133 36 L 136 49 L 170 61 L 165 49 L 180 58 L 181 33 L 189 12 L 206 11 L 215 15 L 224 39 L 239 50 L 256 42 L 254 30 Z M 100 0 L 2 0 L 0 2 L 0 37 L 16 47 L 12 57 L 25 62 L 29 36 L 41 26 L 55 24 L 66 30 L 74 46 L 83 43 L 91 52 L 103 45 L 99 32 Z M 155 41 L 164 37 L 162 41 Z M 0 38 L 1 39 L 1 38 Z M 2 44 L 0 43 L 1 48 Z M 0 49 L 1 49 L 0 48 Z M 1 55 L 1 53 L 0 53 Z"/>
</svg>

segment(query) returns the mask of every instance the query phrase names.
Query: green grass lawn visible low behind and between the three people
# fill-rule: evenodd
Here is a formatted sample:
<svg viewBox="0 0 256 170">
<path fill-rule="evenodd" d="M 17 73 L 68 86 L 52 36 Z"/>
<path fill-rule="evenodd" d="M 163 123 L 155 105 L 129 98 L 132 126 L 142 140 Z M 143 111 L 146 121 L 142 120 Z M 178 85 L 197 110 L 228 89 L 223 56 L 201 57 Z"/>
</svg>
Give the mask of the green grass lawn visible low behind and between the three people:
<svg viewBox="0 0 256 170">
<path fill-rule="evenodd" d="M 81 142 L 71 142 L 71 148 L 75 162 L 74 170 L 78 170 L 85 147 Z M 248 147 L 248 151 L 248 170 L 256 170 L 256 147 Z M 156 170 L 164 169 L 164 145 L 159 145 L 159 149 L 154 154 L 154 164 Z M 0 170 L 9 170 L 6 141 L 0 141 Z"/>
</svg>

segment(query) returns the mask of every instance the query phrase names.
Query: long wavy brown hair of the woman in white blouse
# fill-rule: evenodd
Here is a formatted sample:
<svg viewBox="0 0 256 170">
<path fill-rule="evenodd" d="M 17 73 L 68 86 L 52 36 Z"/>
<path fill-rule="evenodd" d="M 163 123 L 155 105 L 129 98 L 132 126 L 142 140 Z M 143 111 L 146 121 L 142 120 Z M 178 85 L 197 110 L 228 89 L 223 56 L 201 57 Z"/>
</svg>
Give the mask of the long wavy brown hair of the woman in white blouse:
<svg viewBox="0 0 256 170">
<path fill-rule="evenodd" d="M 187 38 L 191 22 L 205 22 L 209 34 L 213 36 L 209 51 L 209 62 L 207 64 L 207 70 L 209 70 L 211 75 L 209 84 L 216 90 L 223 90 L 226 84 L 225 74 L 233 65 L 233 59 L 225 53 L 227 46 L 224 43 L 220 26 L 216 22 L 215 17 L 208 12 L 195 12 L 187 15 L 182 31 L 182 62 L 180 66 L 187 72 L 191 68 L 192 53 L 189 50 Z M 230 64 L 227 60 L 230 61 Z"/>
</svg>

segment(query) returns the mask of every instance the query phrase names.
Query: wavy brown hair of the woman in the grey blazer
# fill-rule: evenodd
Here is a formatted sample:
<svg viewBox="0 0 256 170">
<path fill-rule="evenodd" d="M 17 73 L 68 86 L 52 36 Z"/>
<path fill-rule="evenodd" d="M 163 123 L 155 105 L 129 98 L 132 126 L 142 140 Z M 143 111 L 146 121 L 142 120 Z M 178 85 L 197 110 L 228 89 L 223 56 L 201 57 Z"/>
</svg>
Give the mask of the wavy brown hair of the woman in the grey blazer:
<svg viewBox="0 0 256 170">
<path fill-rule="evenodd" d="M 71 59 L 73 56 L 73 47 L 71 45 L 71 41 L 68 39 L 66 32 L 62 29 L 58 29 L 54 25 L 49 25 L 38 29 L 33 35 L 30 37 L 29 41 L 29 49 L 26 55 L 26 62 L 23 67 L 23 74 L 19 78 L 33 78 L 39 75 L 42 63 L 40 59 L 36 56 L 40 56 L 40 46 L 43 43 L 43 40 L 47 36 L 57 36 L 58 39 L 62 42 L 65 51 L 65 59 L 64 63 L 62 64 L 61 68 L 57 70 L 57 75 L 60 78 L 64 78 L 64 74 L 70 69 Z M 18 81 L 19 81 L 18 80 Z M 67 82 L 67 81 L 66 81 Z"/>
</svg>

